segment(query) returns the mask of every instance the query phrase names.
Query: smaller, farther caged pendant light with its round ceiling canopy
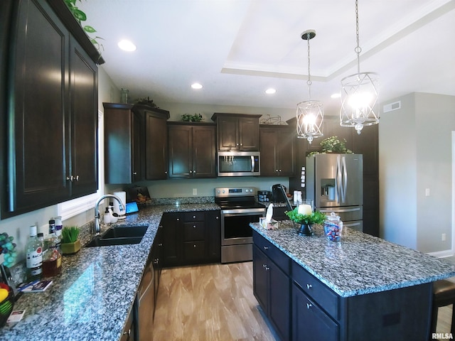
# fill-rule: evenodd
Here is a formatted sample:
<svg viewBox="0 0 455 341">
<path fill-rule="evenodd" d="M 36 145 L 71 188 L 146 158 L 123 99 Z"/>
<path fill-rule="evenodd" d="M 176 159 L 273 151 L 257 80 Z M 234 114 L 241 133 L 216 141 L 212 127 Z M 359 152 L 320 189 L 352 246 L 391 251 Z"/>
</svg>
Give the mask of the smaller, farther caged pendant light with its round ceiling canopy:
<svg viewBox="0 0 455 341">
<path fill-rule="evenodd" d="M 316 31 L 308 30 L 301 33 L 301 38 L 308 43 L 308 93 L 309 100 L 297 104 L 297 137 L 307 139 L 308 143 L 316 137 L 323 136 L 321 132 L 324 117 L 323 104 L 319 101 L 311 100 L 311 75 L 310 75 L 310 39 L 316 36 Z"/>
</svg>

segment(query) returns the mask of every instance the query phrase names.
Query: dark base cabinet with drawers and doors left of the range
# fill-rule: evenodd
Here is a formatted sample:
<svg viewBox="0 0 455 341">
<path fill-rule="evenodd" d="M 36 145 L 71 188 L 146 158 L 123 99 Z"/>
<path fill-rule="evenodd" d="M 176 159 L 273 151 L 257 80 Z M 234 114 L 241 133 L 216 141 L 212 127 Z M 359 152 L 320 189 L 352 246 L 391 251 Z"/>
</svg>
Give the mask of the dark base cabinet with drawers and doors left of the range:
<svg viewBox="0 0 455 341">
<path fill-rule="evenodd" d="M 220 262 L 220 211 L 164 213 L 161 225 L 163 266 Z"/>
</svg>

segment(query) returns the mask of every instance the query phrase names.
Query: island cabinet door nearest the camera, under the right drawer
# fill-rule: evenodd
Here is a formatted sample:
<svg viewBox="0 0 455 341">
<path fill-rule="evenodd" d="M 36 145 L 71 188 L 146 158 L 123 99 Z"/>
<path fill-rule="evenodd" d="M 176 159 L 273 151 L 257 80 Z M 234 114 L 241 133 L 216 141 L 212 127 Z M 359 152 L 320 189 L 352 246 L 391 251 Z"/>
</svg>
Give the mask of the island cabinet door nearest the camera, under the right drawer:
<svg viewBox="0 0 455 341">
<path fill-rule="evenodd" d="M 301 289 L 292 285 L 292 340 L 339 340 L 339 326 Z"/>
</svg>

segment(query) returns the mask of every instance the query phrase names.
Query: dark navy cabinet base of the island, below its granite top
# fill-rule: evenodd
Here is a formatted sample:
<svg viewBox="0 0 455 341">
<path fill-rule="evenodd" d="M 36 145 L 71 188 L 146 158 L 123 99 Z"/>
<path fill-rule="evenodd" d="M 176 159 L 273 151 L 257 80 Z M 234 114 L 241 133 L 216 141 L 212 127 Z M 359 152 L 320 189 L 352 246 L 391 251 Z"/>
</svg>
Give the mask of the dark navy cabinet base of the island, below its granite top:
<svg viewBox="0 0 455 341">
<path fill-rule="evenodd" d="M 341 297 L 256 231 L 253 243 L 253 291 L 281 340 L 427 340 L 431 283 Z"/>
</svg>

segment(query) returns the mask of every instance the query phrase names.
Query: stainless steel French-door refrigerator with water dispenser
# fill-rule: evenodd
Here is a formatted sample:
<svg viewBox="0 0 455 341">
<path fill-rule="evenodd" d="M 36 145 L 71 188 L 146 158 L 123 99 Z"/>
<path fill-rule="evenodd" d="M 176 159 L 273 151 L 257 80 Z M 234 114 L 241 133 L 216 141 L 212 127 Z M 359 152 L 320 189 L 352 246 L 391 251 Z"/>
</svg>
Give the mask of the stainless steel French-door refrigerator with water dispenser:
<svg viewBox="0 0 455 341">
<path fill-rule="evenodd" d="M 335 212 L 343 226 L 363 232 L 363 157 L 316 154 L 306 158 L 306 199 L 321 212 Z"/>
</svg>

